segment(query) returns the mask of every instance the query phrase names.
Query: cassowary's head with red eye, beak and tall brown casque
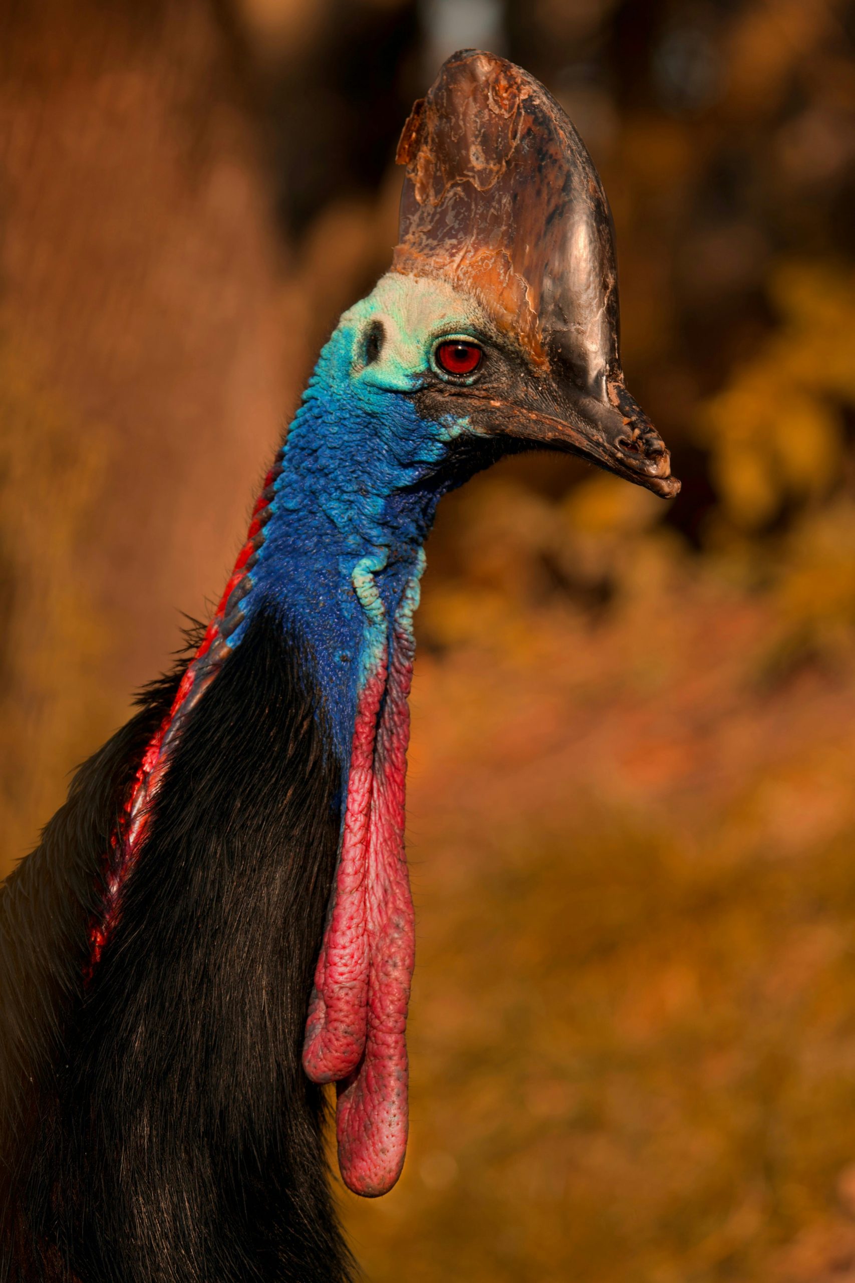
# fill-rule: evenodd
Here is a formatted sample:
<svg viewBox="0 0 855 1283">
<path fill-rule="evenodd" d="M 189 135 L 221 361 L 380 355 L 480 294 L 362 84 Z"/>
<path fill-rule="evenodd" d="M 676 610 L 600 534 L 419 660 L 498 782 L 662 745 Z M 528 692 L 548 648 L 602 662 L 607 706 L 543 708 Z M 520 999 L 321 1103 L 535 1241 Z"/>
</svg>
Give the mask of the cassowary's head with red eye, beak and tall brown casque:
<svg viewBox="0 0 855 1283">
<path fill-rule="evenodd" d="M 558 103 L 501 58 L 455 54 L 397 159 L 392 269 L 340 335 L 367 409 L 388 420 L 406 398 L 417 411 L 423 439 L 405 434 L 401 462 L 456 463 L 463 480 L 546 446 L 676 495 L 668 450 L 624 387 L 609 205 Z"/>
</svg>

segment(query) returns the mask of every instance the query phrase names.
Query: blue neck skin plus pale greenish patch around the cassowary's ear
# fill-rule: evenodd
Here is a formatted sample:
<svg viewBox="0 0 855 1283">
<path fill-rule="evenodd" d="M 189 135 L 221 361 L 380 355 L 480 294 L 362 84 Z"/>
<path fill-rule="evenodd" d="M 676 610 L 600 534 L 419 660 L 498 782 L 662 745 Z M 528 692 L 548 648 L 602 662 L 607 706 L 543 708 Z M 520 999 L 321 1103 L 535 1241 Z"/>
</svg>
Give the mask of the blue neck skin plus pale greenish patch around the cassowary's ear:
<svg viewBox="0 0 855 1283">
<path fill-rule="evenodd" d="M 382 326 L 373 361 L 372 326 Z M 385 644 L 391 656 L 395 620 L 411 631 L 437 503 L 472 472 L 447 466 L 468 418 L 424 420 L 411 394 L 431 377 L 437 341 L 485 328 L 450 285 L 387 273 L 342 316 L 288 430 L 245 618 L 228 644 L 240 645 L 261 607 L 306 644 L 345 771 L 359 692 Z"/>
</svg>

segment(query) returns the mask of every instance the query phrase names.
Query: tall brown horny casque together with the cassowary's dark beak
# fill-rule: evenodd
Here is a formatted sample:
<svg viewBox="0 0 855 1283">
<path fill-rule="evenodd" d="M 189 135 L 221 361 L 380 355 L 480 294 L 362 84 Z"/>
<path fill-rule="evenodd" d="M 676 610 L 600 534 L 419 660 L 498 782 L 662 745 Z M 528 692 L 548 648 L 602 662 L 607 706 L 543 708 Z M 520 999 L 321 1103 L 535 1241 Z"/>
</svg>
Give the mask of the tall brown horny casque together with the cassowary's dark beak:
<svg viewBox="0 0 855 1283">
<path fill-rule="evenodd" d="M 394 271 L 469 294 L 519 357 L 508 389 L 449 389 L 473 430 L 583 454 L 673 498 L 668 450 L 624 386 L 609 204 L 559 104 L 504 58 L 464 50 L 413 108 L 397 160 Z"/>
</svg>

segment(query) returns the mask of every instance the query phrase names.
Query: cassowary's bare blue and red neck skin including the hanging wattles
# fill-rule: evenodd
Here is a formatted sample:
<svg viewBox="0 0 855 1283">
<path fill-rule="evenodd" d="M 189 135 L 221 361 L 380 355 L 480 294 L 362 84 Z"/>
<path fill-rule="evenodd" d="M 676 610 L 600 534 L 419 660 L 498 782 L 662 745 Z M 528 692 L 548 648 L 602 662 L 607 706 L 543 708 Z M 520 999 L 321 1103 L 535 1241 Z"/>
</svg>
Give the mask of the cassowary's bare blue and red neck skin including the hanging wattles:
<svg viewBox="0 0 855 1283">
<path fill-rule="evenodd" d="M 358 1193 L 385 1193 L 406 1147 L 406 1010 L 414 955 L 404 853 L 408 695 L 422 545 L 452 484 L 454 429 L 426 431 L 411 402 L 355 385 L 355 336 L 324 348 L 268 473 L 247 541 L 169 716 L 149 745 L 105 870 L 90 974 L 120 915 L 170 745 L 240 645 L 273 609 L 305 650 L 323 694 L 345 797 L 336 885 L 315 970 L 304 1067 L 338 1087 L 338 1159 Z"/>
</svg>

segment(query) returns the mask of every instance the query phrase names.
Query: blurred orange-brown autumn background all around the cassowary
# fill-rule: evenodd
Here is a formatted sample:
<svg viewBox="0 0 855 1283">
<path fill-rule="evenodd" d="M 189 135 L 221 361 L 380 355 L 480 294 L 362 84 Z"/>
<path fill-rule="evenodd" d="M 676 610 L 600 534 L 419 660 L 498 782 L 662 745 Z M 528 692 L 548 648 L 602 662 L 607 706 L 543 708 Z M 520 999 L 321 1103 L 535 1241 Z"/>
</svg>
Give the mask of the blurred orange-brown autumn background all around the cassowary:
<svg viewBox="0 0 855 1283">
<path fill-rule="evenodd" d="M 204 617 L 392 155 L 481 46 L 611 200 L 673 504 L 441 511 L 373 1283 L 855 1280 L 855 5 L 1 0 L 1 872 Z"/>
</svg>

